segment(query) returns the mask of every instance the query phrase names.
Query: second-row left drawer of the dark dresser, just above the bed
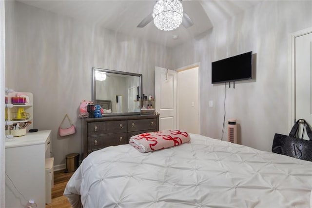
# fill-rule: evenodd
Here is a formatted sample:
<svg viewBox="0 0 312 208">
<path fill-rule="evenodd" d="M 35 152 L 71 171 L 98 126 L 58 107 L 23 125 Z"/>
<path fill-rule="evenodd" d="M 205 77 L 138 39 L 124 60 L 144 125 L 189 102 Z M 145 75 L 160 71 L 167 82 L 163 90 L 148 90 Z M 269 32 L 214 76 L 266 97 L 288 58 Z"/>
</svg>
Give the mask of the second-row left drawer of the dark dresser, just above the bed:
<svg viewBox="0 0 312 208">
<path fill-rule="evenodd" d="M 125 145 L 128 143 L 127 133 L 107 134 L 88 138 L 88 151 L 102 149 L 107 146 Z"/>
</svg>

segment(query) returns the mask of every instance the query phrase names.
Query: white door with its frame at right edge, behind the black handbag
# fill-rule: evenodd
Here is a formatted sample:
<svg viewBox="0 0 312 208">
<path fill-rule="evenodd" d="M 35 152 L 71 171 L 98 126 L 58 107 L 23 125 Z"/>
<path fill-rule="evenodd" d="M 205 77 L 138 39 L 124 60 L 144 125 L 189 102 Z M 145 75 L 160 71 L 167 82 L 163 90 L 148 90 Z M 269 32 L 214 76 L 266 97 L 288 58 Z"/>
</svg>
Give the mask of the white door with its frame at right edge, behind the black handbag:
<svg viewBox="0 0 312 208">
<path fill-rule="evenodd" d="M 290 45 L 291 129 L 298 119 L 305 119 L 312 125 L 312 28 L 292 34 Z M 301 128 L 299 135 L 302 135 Z M 306 133 L 303 138 L 308 139 Z"/>
</svg>

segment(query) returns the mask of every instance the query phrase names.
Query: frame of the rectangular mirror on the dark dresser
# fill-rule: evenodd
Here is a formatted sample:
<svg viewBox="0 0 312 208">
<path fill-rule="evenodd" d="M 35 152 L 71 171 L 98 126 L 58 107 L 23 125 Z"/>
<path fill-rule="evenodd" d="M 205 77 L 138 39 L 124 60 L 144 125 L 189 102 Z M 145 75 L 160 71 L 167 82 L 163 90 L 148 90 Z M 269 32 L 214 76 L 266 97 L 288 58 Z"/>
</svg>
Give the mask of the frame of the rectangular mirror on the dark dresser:
<svg viewBox="0 0 312 208">
<path fill-rule="evenodd" d="M 121 75 L 128 75 L 128 76 L 135 76 L 139 78 L 139 87 L 140 87 L 140 98 L 142 97 L 142 74 L 136 74 L 136 73 L 130 73 L 130 72 L 123 72 L 123 71 L 115 71 L 110 69 L 102 69 L 102 68 L 96 68 L 92 67 L 92 101 L 94 104 L 96 104 L 96 77 L 95 77 L 95 71 L 102 71 L 106 73 L 113 73 L 113 74 L 121 74 Z M 124 115 L 140 115 L 141 109 L 139 112 L 122 112 L 122 113 L 107 113 L 102 114 L 102 116 L 124 116 Z"/>
</svg>

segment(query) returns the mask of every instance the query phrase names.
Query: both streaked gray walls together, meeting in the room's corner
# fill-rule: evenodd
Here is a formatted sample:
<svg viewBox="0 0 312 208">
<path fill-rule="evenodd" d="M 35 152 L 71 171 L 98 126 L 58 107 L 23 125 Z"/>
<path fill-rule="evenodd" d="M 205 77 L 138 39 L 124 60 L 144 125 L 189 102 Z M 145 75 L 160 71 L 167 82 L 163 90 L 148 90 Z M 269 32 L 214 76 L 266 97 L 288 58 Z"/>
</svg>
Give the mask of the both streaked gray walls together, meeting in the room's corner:
<svg viewBox="0 0 312 208">
<path fill-rule="evenodd" d="M 143 93 L 155 94 L 155 66 L 200 62 L 200 133 L 220 138 L 224 84 L 211 84 L 211 62 L 253 51 L 255 78 L 227 86 L 226 120 L 237 119 L 243 145 L 270 151 L 274 133 L 289 132 L 289 34 L 312 27 L 311 11 L 311 1 L 264 1 L 170 49 L 6 1 L 6 86 L 34 94 L 34 127 L 53 130 L 59 165 L 66 154 L 82 152 L 78 106 L 91 100 L 92 67 L 143 74 Z M 78 132 L 61 138 L 66 113 Z"/>
</svg>

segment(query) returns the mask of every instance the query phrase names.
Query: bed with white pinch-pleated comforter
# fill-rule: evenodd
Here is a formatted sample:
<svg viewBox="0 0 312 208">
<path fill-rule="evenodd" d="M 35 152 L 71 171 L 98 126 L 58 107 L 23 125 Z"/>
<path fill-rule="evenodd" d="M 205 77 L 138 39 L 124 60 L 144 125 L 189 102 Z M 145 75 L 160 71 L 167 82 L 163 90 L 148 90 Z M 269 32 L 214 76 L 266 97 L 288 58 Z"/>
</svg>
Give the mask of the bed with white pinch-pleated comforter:
<svg viewBox="0 0 312 208">
<path fill-rule="evenodd" d="M 64 195 L 76 208 L 309 208 L 312 162 L 190 134 L 141 153 L 110 146 L 85 158 Z"/>
</svg>

